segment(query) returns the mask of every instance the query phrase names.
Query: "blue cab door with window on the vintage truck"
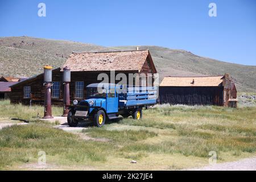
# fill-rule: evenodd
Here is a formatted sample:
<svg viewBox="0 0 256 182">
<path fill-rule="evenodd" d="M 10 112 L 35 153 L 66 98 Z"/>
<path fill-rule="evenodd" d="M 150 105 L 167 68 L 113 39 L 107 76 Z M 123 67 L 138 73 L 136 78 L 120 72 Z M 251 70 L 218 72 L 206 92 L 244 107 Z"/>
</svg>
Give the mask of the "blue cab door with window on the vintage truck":
<svg viewBox="0 0 256 182">
<path fill-rule="evenodd" d="M 106 112 L 118 112 L 118 93 L 115 92 L 115 88 L 108 89 L 108 94 L 106 96 Z"/>
</svg>

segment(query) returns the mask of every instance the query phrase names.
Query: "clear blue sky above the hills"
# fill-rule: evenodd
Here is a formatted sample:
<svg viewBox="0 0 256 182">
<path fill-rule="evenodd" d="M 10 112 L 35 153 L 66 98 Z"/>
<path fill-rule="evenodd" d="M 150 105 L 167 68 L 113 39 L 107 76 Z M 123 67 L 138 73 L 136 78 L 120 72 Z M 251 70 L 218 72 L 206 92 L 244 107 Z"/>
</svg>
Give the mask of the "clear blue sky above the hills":
<svg viewBox="0 0 256 182">
<path fill-rule="evenodd" d="M 46 17 L 38 4 L 46 4 Z M 209 3 L 217 17 L 209 17 Z M 0 36 L 33 36 L 101 46 L 185 49 L 256 65 L 256 1 L 2 1 Z"/>
</svg>

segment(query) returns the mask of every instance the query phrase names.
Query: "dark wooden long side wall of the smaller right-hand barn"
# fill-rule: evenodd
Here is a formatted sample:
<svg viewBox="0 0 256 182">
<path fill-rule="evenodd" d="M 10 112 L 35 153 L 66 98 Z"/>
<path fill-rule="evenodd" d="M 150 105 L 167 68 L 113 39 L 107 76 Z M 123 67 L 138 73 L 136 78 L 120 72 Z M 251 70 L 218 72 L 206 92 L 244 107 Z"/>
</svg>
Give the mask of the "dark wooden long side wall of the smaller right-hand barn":
<svg viewBox="0 0 256 182">
<path fill-rule="evenodd" d="M 160 86 L 160 104 L 223 105 L 223 87 Z"/>
</svg>

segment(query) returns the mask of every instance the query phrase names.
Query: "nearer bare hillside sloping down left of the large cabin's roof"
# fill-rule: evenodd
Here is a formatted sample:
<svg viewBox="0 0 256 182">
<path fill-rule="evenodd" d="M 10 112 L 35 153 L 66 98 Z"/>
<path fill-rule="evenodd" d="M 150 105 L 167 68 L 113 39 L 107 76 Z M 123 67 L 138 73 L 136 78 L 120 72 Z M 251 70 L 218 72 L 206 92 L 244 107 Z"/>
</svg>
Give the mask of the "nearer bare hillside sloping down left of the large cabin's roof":
<svg viewBox="0 0 256 182">
<path fill-rule="evenodd" d="M 70 41 L 22 37 L 0 38 L 0 76 L 33 76 L 43 66 L 60 67 L 73 51 L 112 51 L 102 46 Z"/>
</svg>

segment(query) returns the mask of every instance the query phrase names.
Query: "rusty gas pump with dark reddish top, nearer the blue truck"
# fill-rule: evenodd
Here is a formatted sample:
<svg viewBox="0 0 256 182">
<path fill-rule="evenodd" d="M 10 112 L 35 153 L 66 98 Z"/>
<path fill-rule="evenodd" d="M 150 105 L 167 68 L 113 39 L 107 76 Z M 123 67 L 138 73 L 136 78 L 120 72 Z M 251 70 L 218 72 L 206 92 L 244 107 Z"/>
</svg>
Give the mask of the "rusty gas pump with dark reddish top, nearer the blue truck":
<svg viewBox="0 0 256 182">
<path fill-rule="evenodd" d="M 63 117 L 68 115 L 68 107 L 70 106 L 70 96 L 69 96 L 69 82 L 71 81 L 71 69 L 69 67 L 63 68 L 63 84 L 64 84 L 64 107 L 63 107 Z"/>
</svg>

